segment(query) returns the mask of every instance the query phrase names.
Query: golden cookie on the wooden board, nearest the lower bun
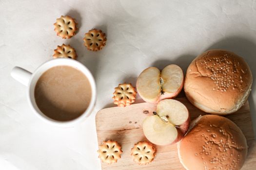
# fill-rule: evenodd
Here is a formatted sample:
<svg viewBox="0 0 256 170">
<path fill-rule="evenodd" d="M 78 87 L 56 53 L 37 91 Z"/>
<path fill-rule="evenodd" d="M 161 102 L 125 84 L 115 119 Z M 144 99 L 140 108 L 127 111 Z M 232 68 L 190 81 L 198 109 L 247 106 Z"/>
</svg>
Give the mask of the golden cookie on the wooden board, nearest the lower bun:
<svg viewBox="0 0 256 170">
<path fill-rule="evenodd" d="M 133 160 L 139 165 L 145 165 L 153 161 L 156 155 L 156 149 L 149 142 L 138 142 L 134 144 L 131 155 Z"/>
</svg>

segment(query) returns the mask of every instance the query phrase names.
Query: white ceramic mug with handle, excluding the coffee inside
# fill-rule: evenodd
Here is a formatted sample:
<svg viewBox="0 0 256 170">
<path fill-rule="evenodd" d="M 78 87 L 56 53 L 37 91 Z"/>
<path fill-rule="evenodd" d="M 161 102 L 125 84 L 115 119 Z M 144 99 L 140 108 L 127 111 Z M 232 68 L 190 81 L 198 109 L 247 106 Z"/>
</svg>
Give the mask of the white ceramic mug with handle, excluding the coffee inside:
<svg viewBox="0 0 256 170">
<path fill-rule="evenodd" d="M 79 116 L 76 119 L 70 120 L 70 121 L 58 121 L 51 119 L 47 116 L 45 116 L 38 108 L 36 101 L 35 101 L 35 96 L 34 96 L 34 91 L 35 91 L 35 86 L 37 84 L 37 81 L 39 77 L 49 68 L 55 67 L 55 66 L 71 66 L 74 68 L 79 69 L 83 74 L 88 78 L 91 88 L 92 88 L 92 98 L 90 101 L 90 104 L 88 108 L 85 110 L 85 112 Z M 34 73 L 31 73 L 23 68 L 20 67 L 15 67 L 11 71 L 11 76 L 19 81 L 21 84 L 28 86 L 27 90 L 27 98 L 30 107 L 34 111 L 34 113 L 42 120 L 45 120 L 51 124 L 54 124 L 59 127 L 72 127 L 78 122 L 83 121 L 90 115 L 90 113 L 93 111 L 95 102 L 96 102 L 96 85 L 95 85 L 95 80 L 89 71 L 88 68 L 86 68 L 84 65 L 82 65 L 80 62 L 69 59 L 69 58 L 57 58 L 54 60 L 47 61 L 46 63 L 42 64 L 39 66 L 39 68 L 36 69 Z"/>
</svg>

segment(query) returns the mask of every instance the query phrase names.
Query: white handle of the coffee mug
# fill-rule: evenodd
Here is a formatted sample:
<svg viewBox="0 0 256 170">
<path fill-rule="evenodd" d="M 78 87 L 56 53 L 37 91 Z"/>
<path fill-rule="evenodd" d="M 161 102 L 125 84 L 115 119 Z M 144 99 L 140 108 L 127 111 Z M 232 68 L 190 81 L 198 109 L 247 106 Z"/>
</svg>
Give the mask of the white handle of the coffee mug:
<svg viewBox="0 0 256 170">
<path fill-rule="evenodd" d="M 28 86 L 32 73 L 20 67 L 14 67 L 11 76 L 23 85 Z"/>
</svg>

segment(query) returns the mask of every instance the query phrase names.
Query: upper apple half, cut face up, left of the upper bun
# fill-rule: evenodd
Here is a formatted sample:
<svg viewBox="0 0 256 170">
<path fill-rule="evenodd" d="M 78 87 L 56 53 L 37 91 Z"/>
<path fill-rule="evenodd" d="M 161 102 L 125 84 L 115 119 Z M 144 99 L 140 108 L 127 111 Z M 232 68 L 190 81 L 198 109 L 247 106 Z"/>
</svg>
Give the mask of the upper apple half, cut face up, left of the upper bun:
<svg viewBox="0 0 256 170">
<path fill-rule="evenodd" d="M 137 91 L 145 102 L 156 103 L 178 95 L 183 87 L 183 72 L 177 65 L 169 65 L 160 71 L 156 67 L 143 70 L 137 79 Z"/>
</svg>

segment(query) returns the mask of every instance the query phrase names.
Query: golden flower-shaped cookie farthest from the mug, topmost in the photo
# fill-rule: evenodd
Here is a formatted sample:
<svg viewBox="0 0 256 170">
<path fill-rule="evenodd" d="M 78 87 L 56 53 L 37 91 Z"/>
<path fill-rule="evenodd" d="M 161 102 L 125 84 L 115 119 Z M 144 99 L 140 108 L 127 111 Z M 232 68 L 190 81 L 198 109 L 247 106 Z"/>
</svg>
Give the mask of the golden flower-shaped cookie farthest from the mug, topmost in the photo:
<svg viewBox="0 0 256 170">
<path fill-rule="evenodd" d="M 74 36 L 77 30 L 77 23 L 70 16 L 61 16 L 54 23 L 54 31 L 64 39 Z"/>
</svg>

